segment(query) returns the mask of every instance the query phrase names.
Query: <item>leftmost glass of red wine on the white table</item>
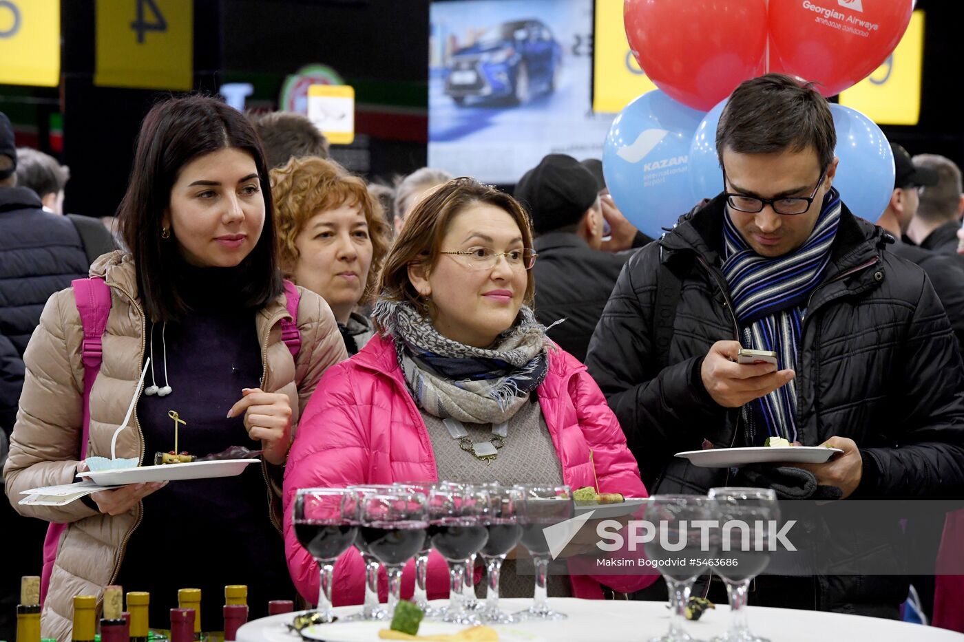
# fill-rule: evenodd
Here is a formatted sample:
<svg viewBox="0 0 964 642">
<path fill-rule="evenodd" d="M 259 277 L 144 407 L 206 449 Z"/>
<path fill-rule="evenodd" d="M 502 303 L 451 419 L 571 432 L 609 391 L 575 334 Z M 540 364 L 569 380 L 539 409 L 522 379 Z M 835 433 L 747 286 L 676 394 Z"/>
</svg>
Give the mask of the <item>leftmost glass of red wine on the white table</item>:
<svg viewBox="0 0 964 642">
<path fill-rule="evenodd" d="M 358 535 L 359 496 L 344 489 L 299 489 L 292 517 L 298 543 L 308 550 L 321 572 L 315 621 L 335 622 L 332 574 L 338 556 Z"/>
</svg>

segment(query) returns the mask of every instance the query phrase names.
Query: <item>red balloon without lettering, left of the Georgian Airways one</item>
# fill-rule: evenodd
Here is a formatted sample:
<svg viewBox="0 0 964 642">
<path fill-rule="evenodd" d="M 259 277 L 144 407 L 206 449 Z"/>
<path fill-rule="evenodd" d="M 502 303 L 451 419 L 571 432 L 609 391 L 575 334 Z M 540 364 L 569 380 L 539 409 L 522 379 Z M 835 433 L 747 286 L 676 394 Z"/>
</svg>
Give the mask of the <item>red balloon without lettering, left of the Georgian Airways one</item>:
<svg viewBox="0 0 964 642">
<path fill-rule="evenodd" d="M 626 0 L 623 18 L 639 67 L 694 109 L 709 111 L 761 72 L 765 0 Z"/>
</svg>

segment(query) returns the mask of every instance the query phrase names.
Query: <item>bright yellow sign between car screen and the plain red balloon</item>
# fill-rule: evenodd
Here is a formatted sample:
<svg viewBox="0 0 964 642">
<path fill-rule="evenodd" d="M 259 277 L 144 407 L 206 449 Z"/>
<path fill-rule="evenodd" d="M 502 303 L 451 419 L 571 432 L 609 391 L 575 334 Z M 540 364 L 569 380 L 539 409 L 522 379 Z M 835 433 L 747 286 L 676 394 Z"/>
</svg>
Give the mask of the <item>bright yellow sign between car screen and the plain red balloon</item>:
<svg viewBox="0 0 964 642">
<path fill-rule="evenodd" d="M 616 114 L 633 98 L 656 89 L 629 51 L 624 0 L 596 0 L 593 111 Z"/>
</svg>

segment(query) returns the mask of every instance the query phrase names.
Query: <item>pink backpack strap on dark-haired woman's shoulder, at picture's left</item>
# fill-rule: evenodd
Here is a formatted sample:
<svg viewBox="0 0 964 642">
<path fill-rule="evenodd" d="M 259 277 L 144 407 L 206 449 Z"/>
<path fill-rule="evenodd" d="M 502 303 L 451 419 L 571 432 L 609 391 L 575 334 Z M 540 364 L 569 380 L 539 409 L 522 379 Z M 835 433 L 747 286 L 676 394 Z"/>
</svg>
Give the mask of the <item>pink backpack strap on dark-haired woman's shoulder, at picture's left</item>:
<svg viewBox="0 0 964 642">
<path fill-rule="evenodd" d="M 84 340 L 81 343 L 80 358 L 84 363 L 84 425 L 80 438 L 80 459 L 87 458 L 87 442 L 91 435 L 91 388 L 94 379 L 100 372 L 100 361 L 103 359 L 102 339 L 107 329 L 107 317 L 111 313 L 111 288 L 100 277 L 90 279 L 75 279 L 70 281 L 73 287 L 73 297 L 80 312 L 80 325 L 84 330 Z M 40 575 L 40 602 L 47 596 L 50 586 L 50 574 L 53 572 L 54 560 L 57 558 L 57 548 L 60 546 L 61 536 L 67 530 L 66 523 L 51 523 L 47 527 L 46 537 L 43 539 L 43 570 Z"/>
</svg>

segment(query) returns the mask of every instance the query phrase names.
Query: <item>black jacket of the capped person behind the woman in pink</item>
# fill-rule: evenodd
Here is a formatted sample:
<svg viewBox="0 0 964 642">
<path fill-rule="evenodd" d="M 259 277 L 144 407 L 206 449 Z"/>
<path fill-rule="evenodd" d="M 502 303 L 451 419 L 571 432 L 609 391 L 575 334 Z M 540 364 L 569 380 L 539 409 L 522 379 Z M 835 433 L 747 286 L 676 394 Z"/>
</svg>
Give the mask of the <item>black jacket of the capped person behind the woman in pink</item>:
<svg viewBox="0 0 964 642">
<path fill-rule="evenodd" d="M 593 250 L 578 235 L 559 231 L 536 237 L 535 250 L 536 317 L 545 326 L 566 319 L 549 336 L 585 361 L 589 339 L 630 253 Z"/>
</svg>

